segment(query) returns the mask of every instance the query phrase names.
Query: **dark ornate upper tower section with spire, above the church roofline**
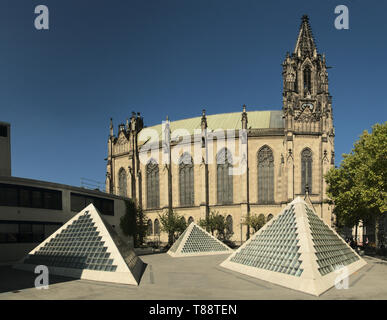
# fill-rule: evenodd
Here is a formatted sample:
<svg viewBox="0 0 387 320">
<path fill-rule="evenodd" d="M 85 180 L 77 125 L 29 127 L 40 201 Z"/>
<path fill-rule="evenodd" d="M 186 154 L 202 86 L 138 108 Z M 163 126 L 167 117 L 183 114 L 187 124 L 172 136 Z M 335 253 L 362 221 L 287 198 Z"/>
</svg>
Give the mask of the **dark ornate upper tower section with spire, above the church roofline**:
<svg viewBox="0 0 387 320">
<path fill-rule="evenodd" d="M 287 53 L 282 66 L 285 129 L 333 133 L 325 55 L 317 52 L 308 16 L 302 17 L 294 52 Z"/>
</svg>

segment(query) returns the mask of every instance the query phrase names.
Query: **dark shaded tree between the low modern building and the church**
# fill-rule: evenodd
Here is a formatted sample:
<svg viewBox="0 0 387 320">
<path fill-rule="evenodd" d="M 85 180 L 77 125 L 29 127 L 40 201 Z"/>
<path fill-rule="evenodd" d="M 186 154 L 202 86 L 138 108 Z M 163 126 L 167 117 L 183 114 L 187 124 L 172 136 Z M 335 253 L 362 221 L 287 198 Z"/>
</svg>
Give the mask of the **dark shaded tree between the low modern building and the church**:
<svg viewBox="0 0 387 320">
<path fill-rule="evenodd" d="M 132 199 L 125 200 L 126 211 L 120 219 L 120 228 L 125 236 L 133 237 L 134 246 L 140 246 L 147 230 L 147 218 L 142 208 Z"/>
</svg>

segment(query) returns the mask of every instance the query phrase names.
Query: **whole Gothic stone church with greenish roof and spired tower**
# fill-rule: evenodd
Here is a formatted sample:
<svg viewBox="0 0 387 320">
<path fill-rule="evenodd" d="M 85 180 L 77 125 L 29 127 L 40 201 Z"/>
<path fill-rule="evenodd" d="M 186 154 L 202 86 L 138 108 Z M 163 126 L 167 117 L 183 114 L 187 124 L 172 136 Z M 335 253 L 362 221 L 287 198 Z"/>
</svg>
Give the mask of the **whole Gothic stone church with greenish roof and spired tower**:
<svg viewBox="0 0 387 320">
<path fill-rule="evenodd" d="M 126 125 L 119 125 L 117 135 L 111 121 L 106 191 L 136 199 L 152 226 L 168 208 L 195 222 L 216 210 L 231 217 L 235 242 L 249 237 L 250 230 L 241 224 L 247 215 L 275 216 L 306 193 L 315 211 L 331 225 L 323 176 L 334 166 L 332 98 L 325 55 L 317 53 L 307 16 L 302 18 L 294 52 L 287 53 L 283 62 L 282 76 L 282 111 L 246 111 L 243 106 L 241 114 L 206 115 L 203 110 L 201 117 L 167 119 L 148 128 L 140 114 L 133 113 Z M 222 137 L 219 129 L 231 130 L 235 137 Z M 235 148 L 230 147 L 233 143 Z M 233 158 L 232 179 L 220 173 L 224 147 L 233 150 L 230 156 L 228 151 L 223 155 Z M 181 175 L 178 159 L 184 153 L 192 157 L 193 177 Z M 150 159 L 157 163 L 152 167 L 154 181 L 147 178 Z M 183 190 L 193 194 L 190 205 L 181 204 L 181 183 L 189 184 Z M 226 194 L 232 200 L 219 201 Z M 150 203 L 157 207 L 150 208 Z M 166 234 L 158 236 L 152 229 L 150 240 L 166 241 Z"/>
</svg>

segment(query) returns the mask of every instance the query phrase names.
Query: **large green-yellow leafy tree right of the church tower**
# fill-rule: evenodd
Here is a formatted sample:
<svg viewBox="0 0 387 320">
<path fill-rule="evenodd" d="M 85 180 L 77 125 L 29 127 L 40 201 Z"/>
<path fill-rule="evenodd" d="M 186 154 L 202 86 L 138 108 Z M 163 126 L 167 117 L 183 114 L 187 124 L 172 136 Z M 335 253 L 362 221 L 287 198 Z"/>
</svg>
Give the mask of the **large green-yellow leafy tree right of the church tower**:
<svg viewBox="0 0 387 320">
<path fill-rule="evenodd" d="M 325 176 L 327 194 L 334 203 L 338 224 L 353 226 L 360 220 L 375 221 L 379 247 L 379 219 L 387 210 L 387 122 L 364 131 L 339 168 Z"/>
</svg>

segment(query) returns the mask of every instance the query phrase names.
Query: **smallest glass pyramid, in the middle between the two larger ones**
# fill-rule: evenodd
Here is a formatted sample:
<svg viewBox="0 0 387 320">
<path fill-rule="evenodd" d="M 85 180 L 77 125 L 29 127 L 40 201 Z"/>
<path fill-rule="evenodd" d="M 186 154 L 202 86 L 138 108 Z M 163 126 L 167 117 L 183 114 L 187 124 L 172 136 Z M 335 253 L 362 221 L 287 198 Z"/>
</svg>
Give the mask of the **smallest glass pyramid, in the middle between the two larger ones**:
<svg viewBox="0 0 387 320">
<path fill-rule="evenodd" d="M 192 257 L 232 252 L 234 251 L 230 247 L 191 222 L 167 253 L 171 257 Z"/>
</svg>

